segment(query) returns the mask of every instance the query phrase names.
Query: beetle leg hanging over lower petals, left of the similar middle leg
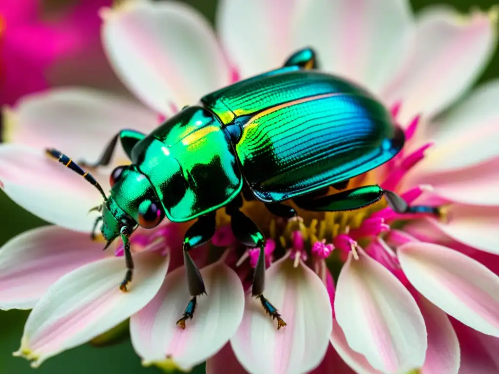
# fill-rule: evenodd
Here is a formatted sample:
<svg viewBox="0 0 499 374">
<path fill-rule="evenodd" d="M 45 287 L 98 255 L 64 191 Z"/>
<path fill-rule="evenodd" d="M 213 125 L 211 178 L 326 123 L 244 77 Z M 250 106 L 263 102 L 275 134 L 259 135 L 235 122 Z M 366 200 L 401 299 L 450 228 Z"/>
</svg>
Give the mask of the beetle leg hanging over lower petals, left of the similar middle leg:
<svg viewBox="0 0 499 374">
<path fill-rule="evenodd" d="M 198 247 L 212 238 L 215 234 L 216 212 L 211 212 L 200 217 L 189 229 L 184 237 L 184 265 L 186 267 L 187 286 L 192 298 L 187 304 L 184 315 L 177 321 L 177 325 L 186 328 L 186 320 L 192 319 L 196 309 L 197 297 L 206 294 L 205 282 L 198 267 L 194 263 L 189 251 Z"/>
</svg>

